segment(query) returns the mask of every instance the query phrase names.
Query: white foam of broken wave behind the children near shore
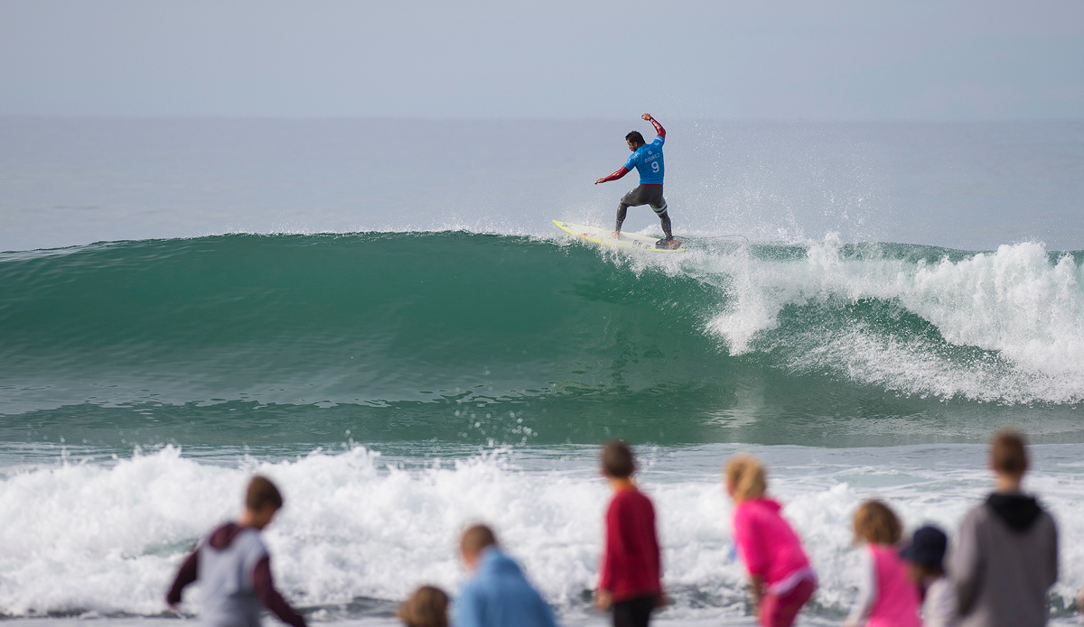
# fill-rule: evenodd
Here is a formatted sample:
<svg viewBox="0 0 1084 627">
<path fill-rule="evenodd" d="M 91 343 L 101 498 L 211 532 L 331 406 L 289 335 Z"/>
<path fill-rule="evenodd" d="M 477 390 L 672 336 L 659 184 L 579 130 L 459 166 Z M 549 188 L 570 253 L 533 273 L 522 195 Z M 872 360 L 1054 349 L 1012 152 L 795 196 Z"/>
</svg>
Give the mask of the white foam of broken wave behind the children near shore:
<svg viewBox="0 0 1084 627">
<path fill-rule="evenodd" d="M 670 618 L 744 613 L 745 575 L 718 479 L 734 452 L 642 452 L 676 601 Z M 772 467 L 772 492 L 818 571 L 824 616 L 842 612 L 857 585 L 849 517 L 862 499 L 889 499 L 909 528 L 933 521 L 952 530 L 990 481 L 981 446 L 754 452 Z M 1067 604 L 1084 584 L 1080 453 L 1080 445 L 1035 447 L 1038 472 L 1029 479 L 1061 523 L 1064 569 L 1055 591 Z M 353 446 L 276 460 L 196 459 L 167 446 L 108 462 L 9 468 L 0 479 L 0 611 L 159 614 L 185 551 L 235 513 L 246 478 L 261 472 L 286 496 L 266 537 L 278 584 L 301 606 L 345 618 L 359 598 L 393 601 L 426 582 L 454 590 L 464 577 L 456 535 L 482 520 L 563 613 L 582 617 L 608 499 L 594 462 L 593 447 L 422 460 Z M 197 589 L 186 596 L 188 611 L 197 599 Z"/>
</svg>

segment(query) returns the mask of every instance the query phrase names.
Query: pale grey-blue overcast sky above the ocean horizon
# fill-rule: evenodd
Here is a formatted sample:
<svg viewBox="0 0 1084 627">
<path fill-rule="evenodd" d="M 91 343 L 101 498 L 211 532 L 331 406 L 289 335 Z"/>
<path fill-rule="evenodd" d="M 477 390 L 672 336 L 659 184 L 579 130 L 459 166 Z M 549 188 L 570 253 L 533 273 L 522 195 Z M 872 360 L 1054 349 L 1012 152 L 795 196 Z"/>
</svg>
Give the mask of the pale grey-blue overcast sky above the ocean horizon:
<svg viewBox="0 0 1084 627">
<path fill-rule="evenodd" d="M 1084 1 L 0 0 L 0 115 L 1084 118 Z"/>
</svg>

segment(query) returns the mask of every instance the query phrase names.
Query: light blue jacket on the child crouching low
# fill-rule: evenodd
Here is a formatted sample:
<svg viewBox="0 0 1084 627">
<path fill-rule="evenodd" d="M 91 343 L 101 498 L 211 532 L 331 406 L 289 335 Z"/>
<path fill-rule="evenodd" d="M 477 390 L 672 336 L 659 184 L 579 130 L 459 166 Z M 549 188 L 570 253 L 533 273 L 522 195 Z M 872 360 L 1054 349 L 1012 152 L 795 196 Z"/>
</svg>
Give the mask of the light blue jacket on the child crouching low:
<svg viewBox="0 0 1084 627">
<path fill-rule="evenodd" d="M 455 627 L 555 627 L 553 611 L 512 558 L 488 547 L 455 601 Z"/>
</svg>

